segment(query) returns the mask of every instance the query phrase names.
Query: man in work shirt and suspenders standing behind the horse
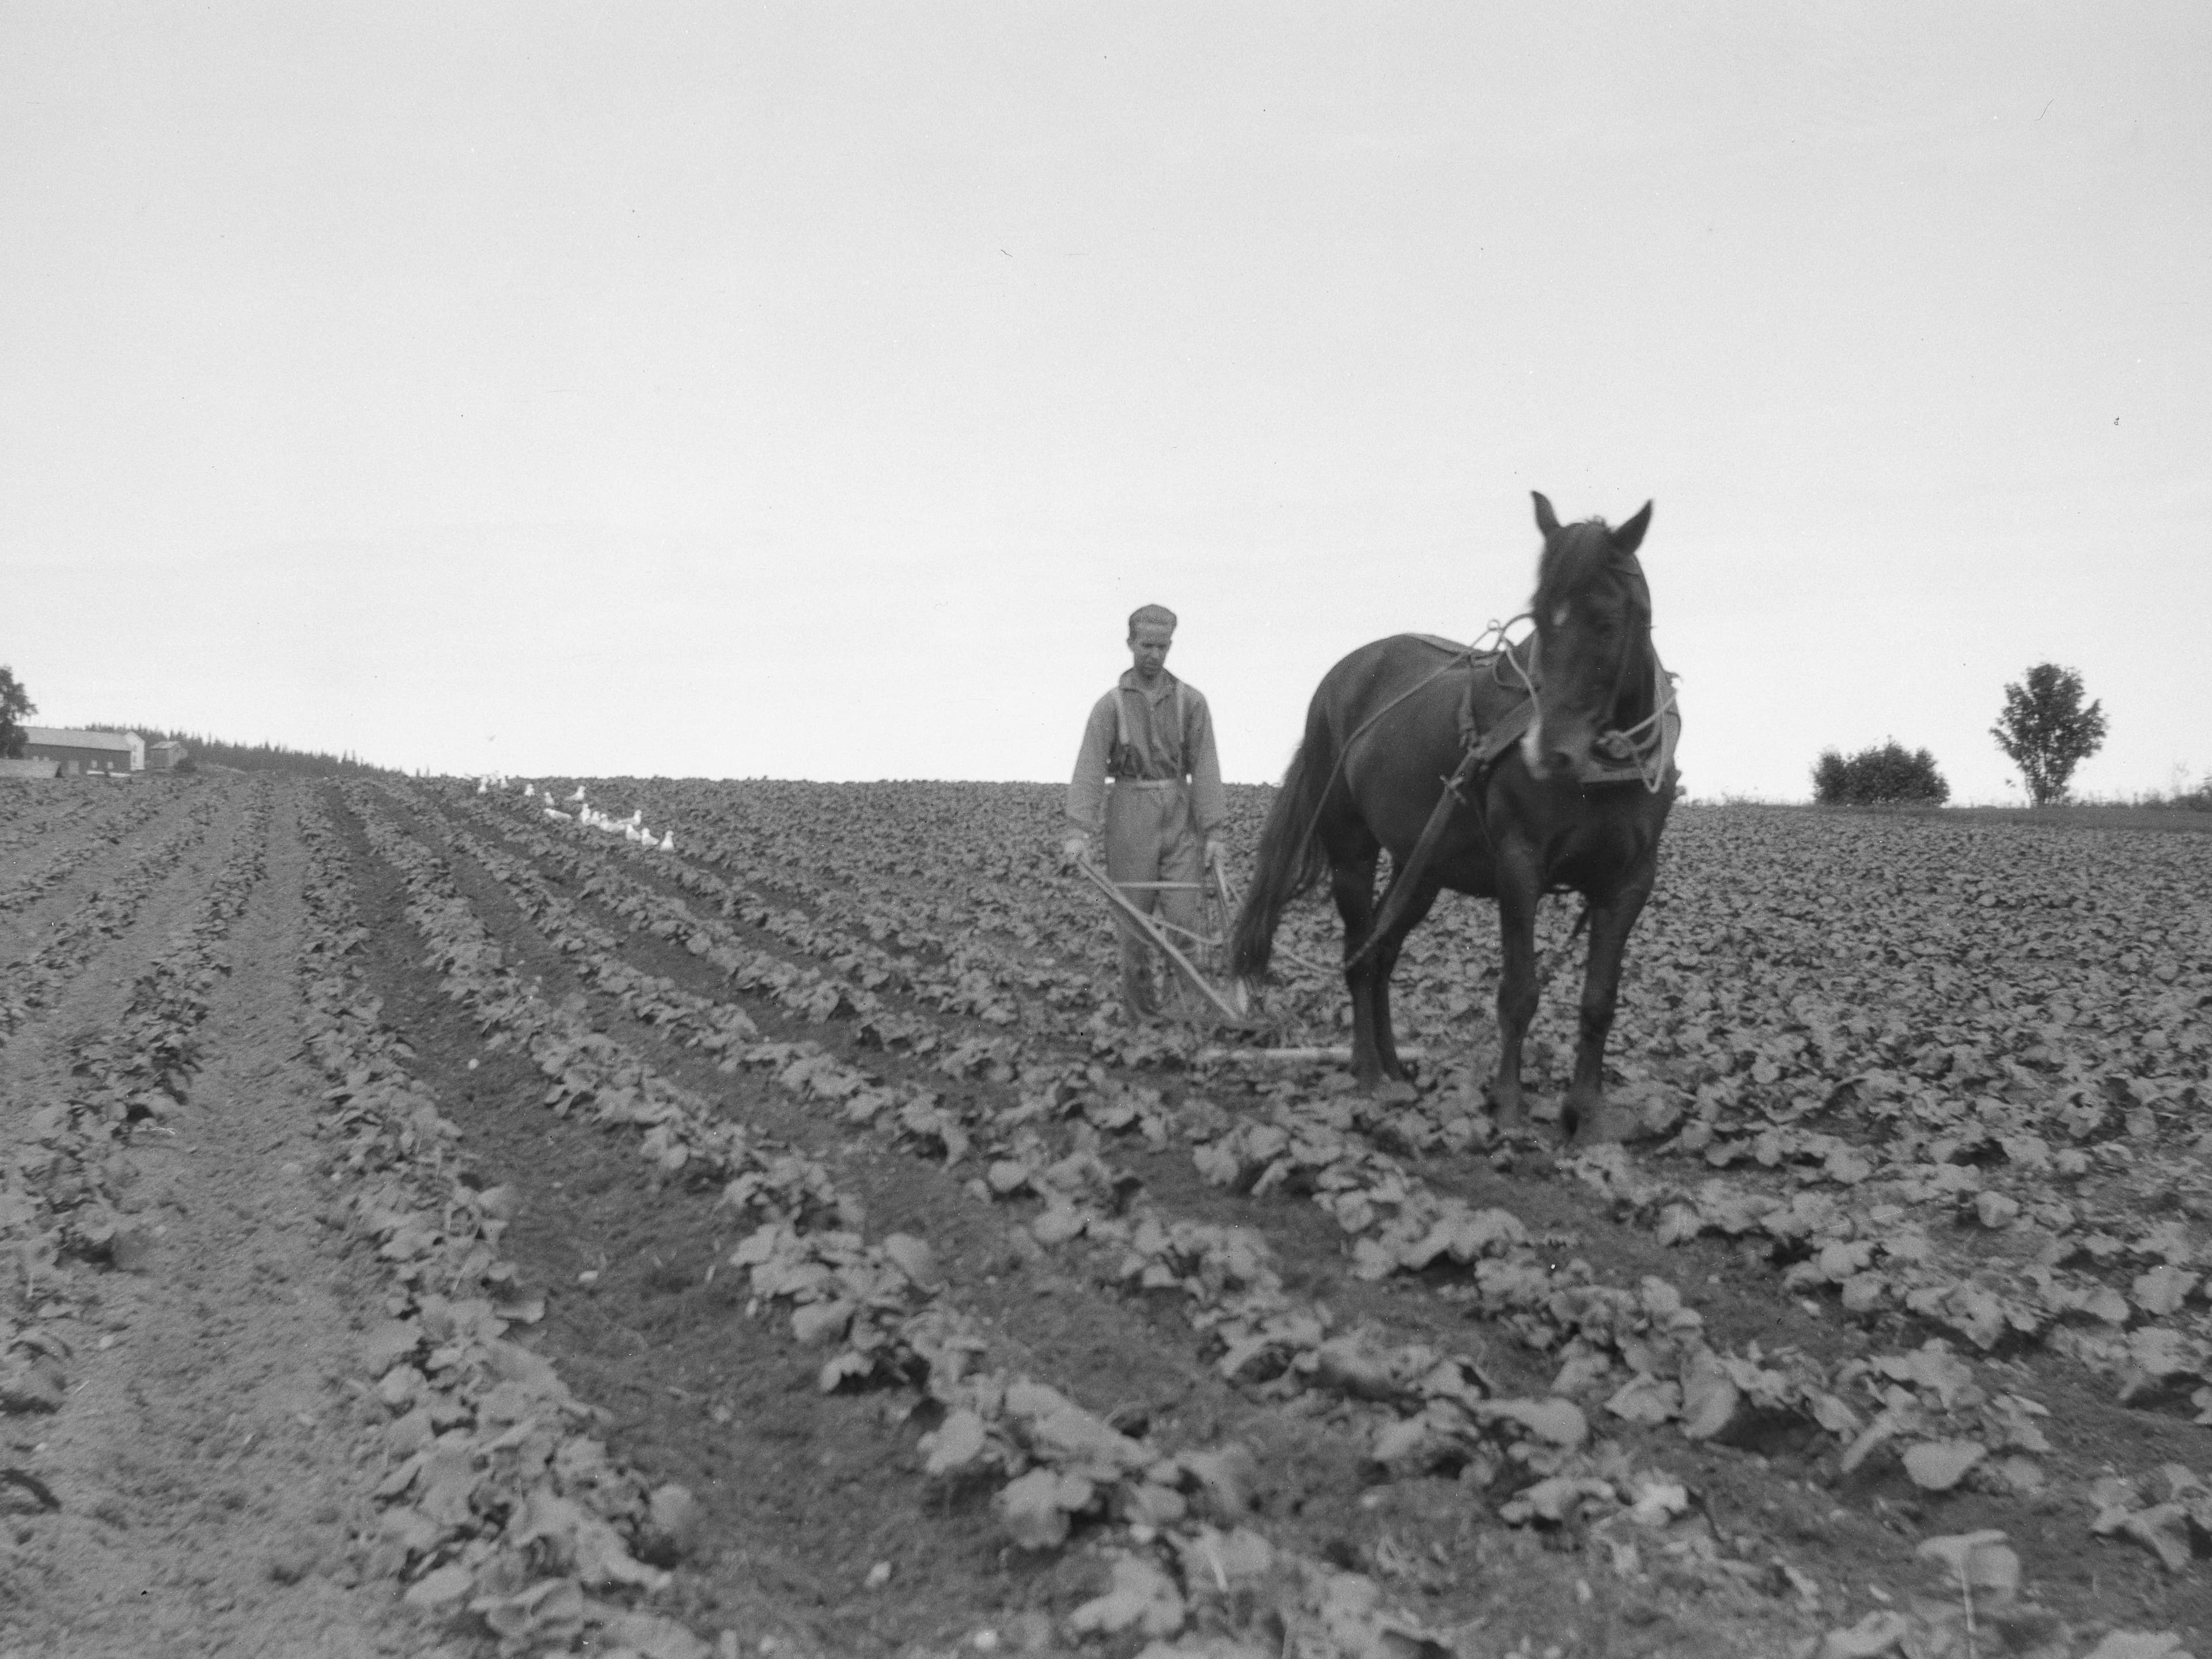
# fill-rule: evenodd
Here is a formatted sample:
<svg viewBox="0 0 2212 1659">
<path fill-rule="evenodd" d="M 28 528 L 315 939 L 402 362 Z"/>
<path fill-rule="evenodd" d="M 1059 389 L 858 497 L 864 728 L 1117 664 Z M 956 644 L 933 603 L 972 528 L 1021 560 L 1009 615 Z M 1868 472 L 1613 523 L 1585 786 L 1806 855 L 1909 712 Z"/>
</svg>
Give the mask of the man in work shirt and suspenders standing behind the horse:
<svg viewBox="0 0 2212 1659">
<path fill-rule="evenodd" d="M 1206 697 L 1168 672 L 1172 644 L 1172 611 L 1148 604 L 1130 613 L 1130 670 L 1091 710 L 1075 757 L 1066 856 L 1068 863 L 1086 863 L 1091 838 L 1104 825 L 1108 880 L 1137 909 L 1157 909 L 1181 949 L 1199 931 L 1199 883 L 1221 863 L 1228 805 L 1214 717 Z M 1121 936 L 1121 1006 L 1130 1020 L 1159 1013 L 1152 989 L 1157 951 L 1128 918 L 1117 916 L 1115 925 Z M 1190 1006 L 1190 991 L 1177 971 L 1168 964 L 1164 971 L 1175 1004 Z"/>
</svg>

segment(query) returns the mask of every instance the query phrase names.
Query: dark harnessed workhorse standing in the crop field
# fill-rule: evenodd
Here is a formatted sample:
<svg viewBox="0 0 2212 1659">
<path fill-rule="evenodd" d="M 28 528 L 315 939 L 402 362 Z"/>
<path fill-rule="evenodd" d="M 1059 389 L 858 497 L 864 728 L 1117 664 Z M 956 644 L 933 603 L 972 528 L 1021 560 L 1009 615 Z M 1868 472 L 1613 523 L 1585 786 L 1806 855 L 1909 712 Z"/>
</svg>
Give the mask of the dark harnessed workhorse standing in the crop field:
<svg viewBox="0 0 2212 1659">
<path fill-rule="evenodd" d="M 1407 933 L 1447 887 L 1493 898 L 1504 967 L 1489 1097 L 1500 1128 L 1526 1130 L 1520 1066 L 1537 1009 L 1535 911 L 1544 894 L 1575 891 L 1575 931 L 1586 927 L 1590 947 L 1562 1128 L 1575 1144 L 1626 1135 L 1626 1119 L 1606 1108 L 1606 1035 L 1628 931 L 1659 869 L 1681 728 L 1637 562 L 1650 513 L 1644 502 L 1617 529 L 1595 518 L 1562 526 L 1535 493 L 1544 549 L 1531 635 L 1504 644 L 1520 617 L 1498 628 L 1491 653 L 1391 635 L 1338 661 L 1314 692 L 1261 832 L 1230 967 L 1265 980 L 1283 907 L 1327 874 L 1345 922 L 1352 1071 L 1367 1088 L 1405 1082 L 1389 980 Z M 1378 914 L 1385 847 L 1391 883 Z"/>
</svg>

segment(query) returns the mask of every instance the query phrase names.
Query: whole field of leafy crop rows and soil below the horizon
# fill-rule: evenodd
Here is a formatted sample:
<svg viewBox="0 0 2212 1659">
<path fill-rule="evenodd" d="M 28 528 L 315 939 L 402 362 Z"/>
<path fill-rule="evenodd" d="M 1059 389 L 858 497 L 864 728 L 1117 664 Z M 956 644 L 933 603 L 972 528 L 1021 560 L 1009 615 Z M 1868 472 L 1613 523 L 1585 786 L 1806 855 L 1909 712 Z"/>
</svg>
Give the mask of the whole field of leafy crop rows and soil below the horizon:
<svg viewBox="0 0 2212 1659">
<path fill-rule="evenodd" d="M 2212 1652 L 2212 838 L 1681 807 L 1562 1157 L 1484 905 L 1360 1095 L 1057 790 L 575 785 L 0 785 L 0 1655 Z"/>
</svg>

